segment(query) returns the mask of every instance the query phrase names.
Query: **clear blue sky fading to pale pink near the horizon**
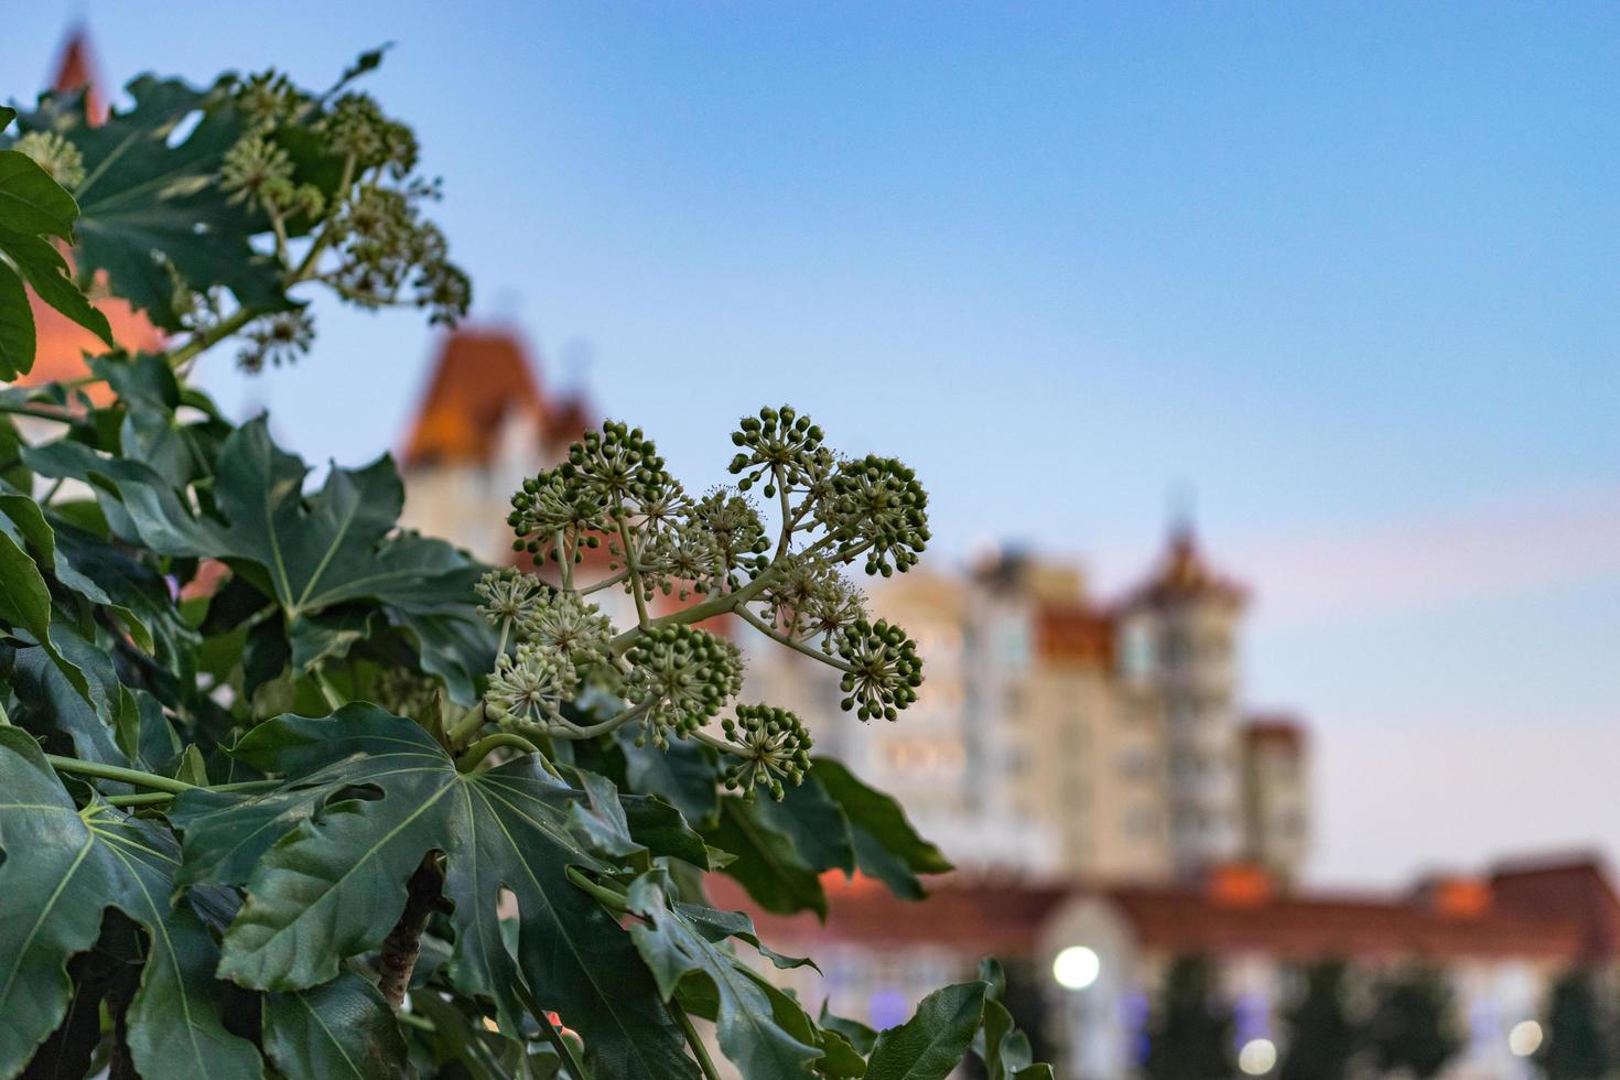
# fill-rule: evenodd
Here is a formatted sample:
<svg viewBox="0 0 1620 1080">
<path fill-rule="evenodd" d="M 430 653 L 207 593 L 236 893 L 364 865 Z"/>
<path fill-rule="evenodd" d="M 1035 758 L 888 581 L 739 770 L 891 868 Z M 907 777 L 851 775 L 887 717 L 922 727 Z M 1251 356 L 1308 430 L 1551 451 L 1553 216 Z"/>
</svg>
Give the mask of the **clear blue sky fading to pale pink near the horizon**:
<svg viewBox="0 0 1620 1080">
<path fill-rule="evenodd" d="M 28 5 L 0 94 L 75 18 L 118 83 L 394 40 L 478 314 L 677 471 L 792 402 L 922 471 L 943 560 L 1105 593 L 1191 486 L 1251 698 L 1319 732 L 1320 878 L 1620 852 L 1620 8 L 1013 6 Z M 366 460 L 433 338 L 319 316 L 206 381 Z"/>
</svg>

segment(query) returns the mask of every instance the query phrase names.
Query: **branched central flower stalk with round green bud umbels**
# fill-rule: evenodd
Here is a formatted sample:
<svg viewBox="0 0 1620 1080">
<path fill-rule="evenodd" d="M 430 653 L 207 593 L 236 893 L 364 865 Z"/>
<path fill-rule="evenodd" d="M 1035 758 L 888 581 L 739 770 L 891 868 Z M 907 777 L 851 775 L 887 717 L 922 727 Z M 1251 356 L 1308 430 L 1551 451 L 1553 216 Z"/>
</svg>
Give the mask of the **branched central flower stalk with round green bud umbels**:
<svg viewBox="0 0 1620 1080">
<path fill-rule="evenodd" d="M 731 436 L 735 487 L 688 499 L 653 440 L 622 423 L 603 424 L 567 460 L 512 495 L 514 549 L 552 580 L 504 570 L 480 585 L 480 612 L 499 628 L 501 656 L 471 730 L 483 721 L 523 737 L 596 738 L 638 724 L 637 745 L 667 750 L 698 738 L 727 755 L 726 782 L 782 798 L 810 763 L 810 737 L 784 709 L 735 706 L 742 653 L 698 622 L 735 615 L 757 633 L 826 664 L 842 706 L 862 721 L 893 721 L 917 699 L 917 644 L 888 622 L 870 622 L 865 597 L 844 576 L 907 570 L 928 542 L 928 495 L 893 458 L 838 458 L 821 429 L 789 406 L 745 416 Z M 770 533 L 752 500 L 776 508 Z M 582 580 L 586 552 L 606 551 L 606 573 Z M 593 560 L 599 562 L 599 560 Z M 622 589 L 637 625 L 616 631 L 599 604 Z M 697 599 L 653 615 L 656 596 Z M 507 653 L 507 643 L 515 651 Z M 569 714 L 585 685 L 617 703 L 580 722 Z"/>
</svg>

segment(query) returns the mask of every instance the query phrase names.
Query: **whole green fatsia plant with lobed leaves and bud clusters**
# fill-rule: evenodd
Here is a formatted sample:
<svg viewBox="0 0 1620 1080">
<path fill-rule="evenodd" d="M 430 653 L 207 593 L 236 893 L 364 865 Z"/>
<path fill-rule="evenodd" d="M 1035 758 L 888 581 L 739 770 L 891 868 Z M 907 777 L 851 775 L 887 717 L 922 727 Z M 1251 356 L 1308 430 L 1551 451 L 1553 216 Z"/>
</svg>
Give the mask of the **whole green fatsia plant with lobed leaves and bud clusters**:
<svg viewBox="0 0 1620 1080">
<path fill-rule="evenodd" d="M 703 902 L 726 873 L 825 915 L 823 873 L 915 899 L 949 870 L 799 717 L 737 703 L 742 653 L 697 625 L 732 614 L 894 719 L 915 644 L 842 573 L 915 562 L 910 470 L 763 410 L 735 444 L 773 538 L 608 424 L 515 504 L 518 546 L 561 557 L 546 585 L 400 529 L 387 457 L 306 489 L 267 419 L 190 385 L 227 340 L 249 368 L 306 347 L 303 288 L 465 309 L 415 136 L 348 87 L 377 60 L 324 94 L 147 76 L 104 126 L 47 96 L 0 149 L 0 377 L 32 363 L 23 279 L 102 337 L 92 279 L 173 332 L 0 389 L 0 1080 L 695 1080 L 693 1020 L 748 1080 L 943 1078 L 969 1052 L 1050 1077 L 1000 968 L 873 1033 L 812 1017 L 768 978 L 812 960 Z M 573 585 L 590 547 L 633 627 Z M 705 599 L 645 610 L 677 589 Z"/>
</svg>

